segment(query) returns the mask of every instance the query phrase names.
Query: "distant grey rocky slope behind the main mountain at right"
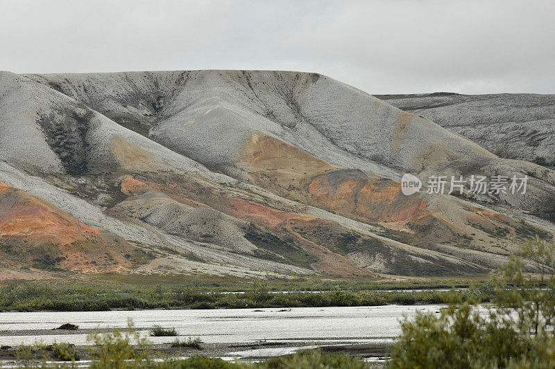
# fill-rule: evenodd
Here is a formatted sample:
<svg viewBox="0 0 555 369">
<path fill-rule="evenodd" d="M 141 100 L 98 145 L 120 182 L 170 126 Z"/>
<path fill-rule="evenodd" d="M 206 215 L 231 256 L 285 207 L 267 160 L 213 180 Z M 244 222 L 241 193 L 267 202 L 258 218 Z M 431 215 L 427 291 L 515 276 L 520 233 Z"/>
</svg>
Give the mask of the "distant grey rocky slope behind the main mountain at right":
<svg viewBox="0 0 555 369">
<path fill-rule="evenodd" d="M 502 158 L 555 165 L 555 95 L 429 93 L 377 97 L 425 116 Z"/>
</svg>

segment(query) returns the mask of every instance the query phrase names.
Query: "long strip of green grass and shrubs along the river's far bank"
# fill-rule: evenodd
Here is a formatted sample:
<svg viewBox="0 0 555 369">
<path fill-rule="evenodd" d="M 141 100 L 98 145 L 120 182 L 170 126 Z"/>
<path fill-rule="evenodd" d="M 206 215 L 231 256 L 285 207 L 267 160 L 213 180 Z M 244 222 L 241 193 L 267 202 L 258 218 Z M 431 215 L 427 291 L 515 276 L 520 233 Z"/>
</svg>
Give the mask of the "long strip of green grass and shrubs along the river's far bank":
<svg viewBox="0 0 555 369">
<path fill-rule="evenodd" d="M 368 282 L 370 283 L 370 282 Z M 461 285 L 462 286 L 462 285 Z M 237 288 L 238 286 L 234 286 Z M 380 291 L 392 288 L 356 282 L 318 287 L 324 291 L 304 293 L 287 285 L 289 293 L 273 292 L 272 285 L 250 282 L 244 293 L 223 293 L 223 289 L 197 285 L 53 285 L 44 282 L 10 283 L 0 287 L 1 311 L 101 311 L 110 309 L 217 309 L 257 307 L 375 306 L 388 304 L 444 303 L 451 291 Z M 273 286 L 275 287 L 275 286 Z M 280 287 L 286 287 L 281 285 Z M 304 286 L 306 287 L 309 286 Z M 314 287 L 314 286 L 312 286 Z M 405 286 L 407 287 L 407 286 Z M 421 286 L 433 288 L 430 285 Z M 449 287 L 442 284 L 441 287 Z M 408 288 L 408 287 L 407 287 Z M 414 287 L 413 287 L 414 288 Z M 436 287 L 437 288 L 437 287 Z M 314 291 L 314 289 L 310 289 Z M 477 283 L 456 292 L 488 301 L 492 289 Z"/>
</svg>

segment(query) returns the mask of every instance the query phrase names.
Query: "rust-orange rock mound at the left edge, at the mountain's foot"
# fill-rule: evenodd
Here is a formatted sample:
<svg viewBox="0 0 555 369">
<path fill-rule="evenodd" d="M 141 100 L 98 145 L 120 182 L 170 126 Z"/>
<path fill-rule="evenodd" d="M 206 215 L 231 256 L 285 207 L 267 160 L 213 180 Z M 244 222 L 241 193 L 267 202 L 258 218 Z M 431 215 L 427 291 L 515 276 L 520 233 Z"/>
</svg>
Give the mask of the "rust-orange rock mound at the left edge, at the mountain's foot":
<svg viewBox="0 0 555 369">
<path fill-rule="evenodd" d="M 0 244 L 8 245 L 19 262 L 74 271 L 126 269 L 129 262 L 121 253 L 131 247 L 117 238 L 40 197 L 0 182 Z M 114 240 L 119 249 L 114 248 Z"/>
</svg>

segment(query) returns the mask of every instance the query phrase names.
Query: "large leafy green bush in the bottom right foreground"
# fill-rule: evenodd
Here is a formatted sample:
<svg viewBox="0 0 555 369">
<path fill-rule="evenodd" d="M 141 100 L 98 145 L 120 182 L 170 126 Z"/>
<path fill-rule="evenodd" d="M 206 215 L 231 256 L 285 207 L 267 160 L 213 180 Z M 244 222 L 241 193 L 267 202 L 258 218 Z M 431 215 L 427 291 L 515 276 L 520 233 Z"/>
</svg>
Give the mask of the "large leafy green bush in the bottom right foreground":
<svg viewBox="0 0 555 369">
<path fill-rule="evenodd" d="M 460 296 L 441 314 L 418 313 L 402 321 L 390 368 L 555 368 L 555 244 L 536 237 L 494 280 L 486 314 Z M 543 288 L 540 288 L 543 287 Z M 458 298 L 458 300 L 457 300 Z"/>
</svg>

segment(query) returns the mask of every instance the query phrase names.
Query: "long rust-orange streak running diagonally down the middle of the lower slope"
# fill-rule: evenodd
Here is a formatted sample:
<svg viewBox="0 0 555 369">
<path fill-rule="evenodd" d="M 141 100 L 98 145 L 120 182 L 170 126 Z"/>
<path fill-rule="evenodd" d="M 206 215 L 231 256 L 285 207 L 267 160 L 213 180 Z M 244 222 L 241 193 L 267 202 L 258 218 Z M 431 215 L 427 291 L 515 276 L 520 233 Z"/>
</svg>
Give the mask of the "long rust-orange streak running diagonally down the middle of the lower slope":
<svg viewBox="0 0 555 369">
<path fill-rule="evenodd" d="M 127 177 L 121 183 L 121 191 L 130 195 L 128 199 L 133 199 L 136 203 L 139 201 L 137 204 L 144 204 L 146 208 L 148 208 L 146 206 L 148 201 L 153 201 L 155 198 L 158 206 L 175 204 L 177 201 L 186 206 L 217 209 L 233 219 L 241 219 L 242 222 L 248 222 L 246 224 L 251 224 L 251 227 L 254 226 L 255 229 L 272 234 L 272 237 L 285 237 L 289 240 L 290 246 L 297 249 L 295 252 L 309 255 L 309 259 L 312 260 L 310 267 L 315 271 L 345 277 L 373 275 L 372 271 L 357 266 L 346 255 L 340 255 L 328 249 L 325 242 L 299 231 L 302 228 L 327 228 L 334 222 L 287 210 L 278 210 L 255 201 L 237 199 L 233 192 L 223 192 L 221 188 L 207 186 L 207 183 L 199 182 L 195 177 L 188 177 L 181 183 L 174 179 L 162 183 L 162 181 L 143 181 L 143 179 Z M 160 196 L 161 194 L 163 195 Z M 123 201 L 121 206 L 126 203 L 127 201 Z M 153 214 L 150 214 L 149 219 L 153 217 Z M 224 224 L 221 226 L 225 227 Z M 339 229 L 337 234 L 341 231 L 348 232 L 339 225 L 337 227 Z M 249 229 L 245 229 L 245 235 L 250 232 Z M 273 249 L 269 249 L 269 251 L 277 252 Z"/>
</svg>

